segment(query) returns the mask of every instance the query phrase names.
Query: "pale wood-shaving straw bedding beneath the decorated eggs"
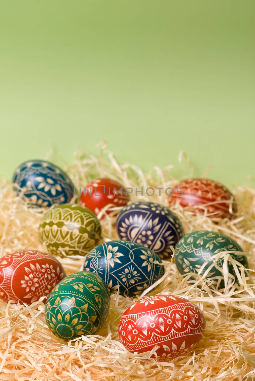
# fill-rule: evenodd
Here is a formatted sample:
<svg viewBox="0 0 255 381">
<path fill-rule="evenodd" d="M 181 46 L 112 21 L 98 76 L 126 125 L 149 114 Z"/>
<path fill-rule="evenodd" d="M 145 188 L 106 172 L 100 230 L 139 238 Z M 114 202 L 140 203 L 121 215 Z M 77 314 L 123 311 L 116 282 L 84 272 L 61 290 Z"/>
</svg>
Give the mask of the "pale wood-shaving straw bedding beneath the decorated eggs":
<svg viewBox="0 0 255 381">
<path fill-rule="evenodd" d="M 61 162 L 58 164 L 61 165 Z M 63 164 L 63 163 L 62 163 Z M 63 165 L 61 165 L 63 167 Z M 75 162 L 64 168 L 77 189 L 97 177 L 111 177 L 125 187 L 173 187 L 192 177 L 192 163 L 180 155 L 177 166 L 154 167 L 148 173 L 127 163 L 118 163 L 101 147 L 99 159 L 88 154 L 75 155 Z M 240 186 L 233 191 L 239 211 L 232 221 L 214 224 L 206 214 L 192 215 L 181 207 L 172 210 L 180 218 L 185 234 L 213 230 L 229 235 L 244 249 L 249 271 L 240 274 L 241 286 L 224 293 L 201 291 L 204 281 L 180 275 L 174 258 L 165 261 L 162 283 L 156 293 L 182 295 L 204 312 L 207 327 L 200 343 L 188 354 L 169 362 L 150 358 L 150 354 L 130 354 L 120 343 L 118 324 L 123 312 L 135 299 L 111 295 L 109 319 L 98 335 L 82 336 L 65 343 L 48 329 L 44 318 L 45 298 L 30 306 L 0 301 L 0 380 L 1 381 L 241 381 L 255 379 L 255 189 Z M 167 196 L 144 196 L 135 192 L 131 200 L 155 201 L 168 206 Z M 109 205 L 107 208 L 111 208 Z M 46 210 L 31 209 L 16 197 L 12 185 L 0 183 L 0 257 L 19 249 L 43 250 L 38 242 L 38 226 Z M 102 212 L 102 214 L 104 211 Z M 118 208 L 101 221 L 104 239 L 118 239 L 115 219 Z M 45 250 L 46 251 L 46 250 Z M 84 257 L 58 258 L 67 275 L 80 271 Z M 158 282 L 159 283 L 159 282 Z M 151 287 L 153 288 L 153 287 Z"/>
</svg>

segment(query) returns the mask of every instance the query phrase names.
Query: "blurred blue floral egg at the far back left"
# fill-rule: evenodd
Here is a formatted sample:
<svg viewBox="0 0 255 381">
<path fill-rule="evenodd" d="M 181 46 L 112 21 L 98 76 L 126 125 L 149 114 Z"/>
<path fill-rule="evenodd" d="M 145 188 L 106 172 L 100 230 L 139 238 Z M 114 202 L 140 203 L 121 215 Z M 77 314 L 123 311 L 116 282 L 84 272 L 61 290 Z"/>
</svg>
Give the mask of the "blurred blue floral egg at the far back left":
<svg viewBox="0 0 255 381">
<path fill-rule="evenodd" d="M 71 201 L 74 184 L 58 166 L 44 160 L 30 160 L 18 166 L 13 182 L 24 191 L 23 199 L 29 205 L 50 207 Z M 17 194 L 21 191 L 14 186 Z"/>
</svg>

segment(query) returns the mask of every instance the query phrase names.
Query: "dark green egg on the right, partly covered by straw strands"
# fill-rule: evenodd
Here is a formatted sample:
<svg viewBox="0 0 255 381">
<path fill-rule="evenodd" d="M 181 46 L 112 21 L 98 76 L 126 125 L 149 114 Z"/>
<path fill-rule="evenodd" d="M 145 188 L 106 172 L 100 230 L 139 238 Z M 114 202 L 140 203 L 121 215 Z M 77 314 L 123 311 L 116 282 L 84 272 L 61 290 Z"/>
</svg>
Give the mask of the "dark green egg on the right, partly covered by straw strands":
<svg viewBox="0 0 255 381">
<path fill-rule="evenodd" d="M 240 253 L 235 253 L 236 251 L 243 251 L 236 241 L 225 234 L 204 230 L 184 235 L 184 237 L 177 243 L 175 247 L 176 267 L 181 274 L 186 274 L 188 272 L 197 274 L 205 261 L 222 251 L 233 251 L 233 253 L 230 254 L 232 258 L 240 263 L 239 267 L 241 265 L 246 268 L 248 267 L 247 257 Z M 219 258 L 216 266 L 213 266 L 211 271 L 207 274 L 206 279 L 209 280 L 210 284 L 212 283 L 214 287 L 217 286 L 219 279 L 223 278 L 223 270 L 221 270 L 223 269 L 223 260 L 224 258 Z M 201 275 L 204 274 L 213 261 L 213 259 L 208 261 Z M 217 267 L 220 267 L 220 269 L 217 269 Z M 234 267 L 229 262 L 228 272 L 234 275 L 236 282 L 238 283 Z M 224 279 L 221 280 L 220 287 L 224 287 Z"/>
</svg>

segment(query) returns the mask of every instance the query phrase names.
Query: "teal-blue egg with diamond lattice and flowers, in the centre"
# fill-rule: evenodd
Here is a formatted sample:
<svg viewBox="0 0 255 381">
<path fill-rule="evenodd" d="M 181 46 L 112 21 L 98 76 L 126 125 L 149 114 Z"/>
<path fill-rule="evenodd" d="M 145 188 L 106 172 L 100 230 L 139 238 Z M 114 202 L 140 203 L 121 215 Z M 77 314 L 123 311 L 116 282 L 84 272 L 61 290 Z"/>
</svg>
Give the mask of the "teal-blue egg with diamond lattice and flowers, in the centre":
<svg viewBox="0 0 255 381">
<path fill-rule="evenodd" d="M 162 263 L 151 250 L 138 243 L 108 241 L 88 253 L 84 270 L 98 274 L 111 293 L 119 290 L 123 296 L 140 295 L 164 275 Z"/>
</svg>

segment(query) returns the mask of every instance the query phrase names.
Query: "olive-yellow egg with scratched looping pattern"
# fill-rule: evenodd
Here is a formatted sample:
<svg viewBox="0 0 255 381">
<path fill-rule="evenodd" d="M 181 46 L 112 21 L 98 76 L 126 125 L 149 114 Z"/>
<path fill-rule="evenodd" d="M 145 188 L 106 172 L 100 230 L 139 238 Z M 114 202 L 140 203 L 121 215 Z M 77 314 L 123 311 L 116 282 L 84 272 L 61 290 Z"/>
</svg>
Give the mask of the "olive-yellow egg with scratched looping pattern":
<svg viewBox="0 0 255 381">
<path fill-rule="evenodd" d="M 101 225 L 91 210 L 77 204 L 58 205 L 45 213 L 39 239 L 49 253 L 86 255 L 101 237 Z"/>
</svg>

